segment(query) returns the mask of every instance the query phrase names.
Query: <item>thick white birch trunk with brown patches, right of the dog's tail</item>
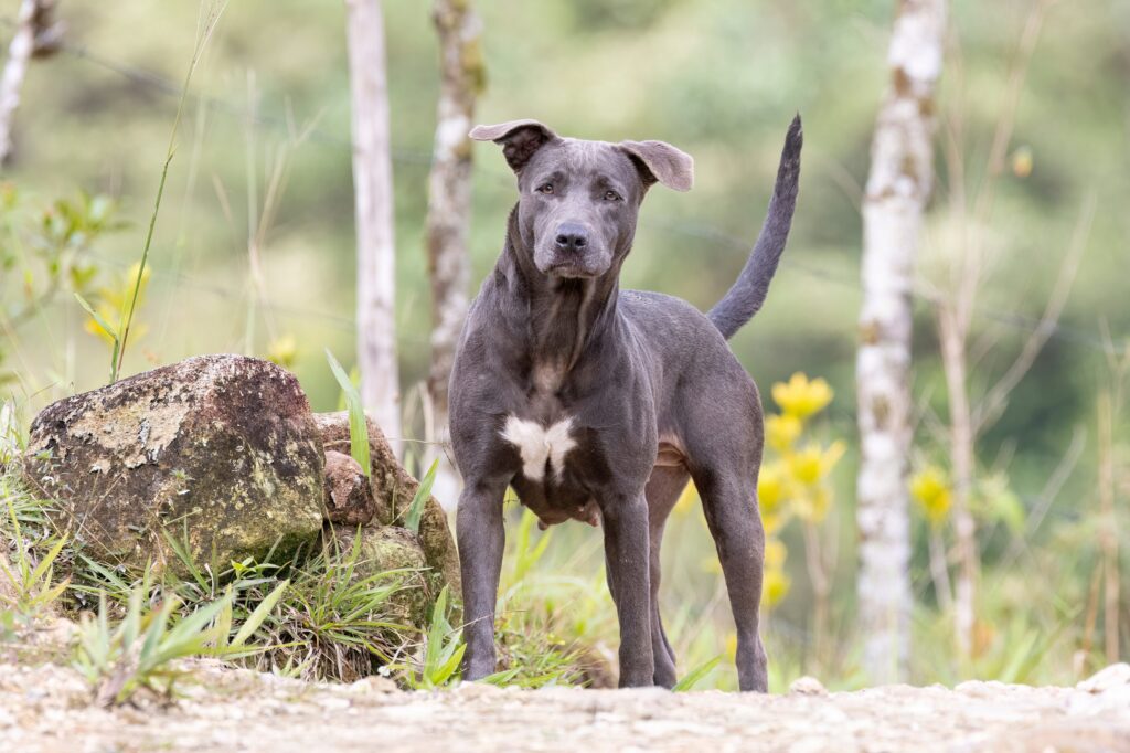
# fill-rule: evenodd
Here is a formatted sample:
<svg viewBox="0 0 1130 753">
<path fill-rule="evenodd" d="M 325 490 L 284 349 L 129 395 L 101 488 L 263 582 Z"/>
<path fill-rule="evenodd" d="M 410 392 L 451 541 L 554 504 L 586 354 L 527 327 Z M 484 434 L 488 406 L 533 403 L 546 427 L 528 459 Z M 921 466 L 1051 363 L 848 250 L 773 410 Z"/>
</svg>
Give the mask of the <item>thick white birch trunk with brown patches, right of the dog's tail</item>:
<svg viewBox="0 0 1130 753">
<path fill-rule="evenodd" d="M 863 666 L 875 683 L 905 680 L 910 659 L 911 284 L 933 183 L 945 26 L 945 0 L 899 0 L 863 200 L 858 588 Z"/>
</svg>

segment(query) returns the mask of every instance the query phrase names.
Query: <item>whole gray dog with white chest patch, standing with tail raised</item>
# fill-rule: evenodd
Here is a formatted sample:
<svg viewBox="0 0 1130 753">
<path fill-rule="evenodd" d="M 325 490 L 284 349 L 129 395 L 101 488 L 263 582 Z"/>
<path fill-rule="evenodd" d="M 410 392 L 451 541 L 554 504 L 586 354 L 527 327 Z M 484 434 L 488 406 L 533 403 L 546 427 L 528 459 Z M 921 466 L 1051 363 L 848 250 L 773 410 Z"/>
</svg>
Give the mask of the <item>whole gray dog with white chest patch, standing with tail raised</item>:
<svg viewBox="0 0 1130 753">
<path fill-rule="evenodd" d="M 658 182 L 688 190 L 688 155 L 662 141 L 562 138 L 533 120 L 479 126 L 470 136 L 502 145 L 520 196 L 451 375 L 451 438 L 466 483 L 458 512 L 463 677 L 495 670 L 510 485 L 542 526 L 570 519 L 603 526 L 620 686 L 672 686 L 659 549 L 668 513 L 694 479 L 737 623 L 740 686 L 764 692 L 762 406 L 725 341 L 760 309 L 784 250 L 797 202 L 800 118 L 789 128 L 753 253 L 705 317 L 668 295 L 619 288 L 647 189 Z"/>
</svg>

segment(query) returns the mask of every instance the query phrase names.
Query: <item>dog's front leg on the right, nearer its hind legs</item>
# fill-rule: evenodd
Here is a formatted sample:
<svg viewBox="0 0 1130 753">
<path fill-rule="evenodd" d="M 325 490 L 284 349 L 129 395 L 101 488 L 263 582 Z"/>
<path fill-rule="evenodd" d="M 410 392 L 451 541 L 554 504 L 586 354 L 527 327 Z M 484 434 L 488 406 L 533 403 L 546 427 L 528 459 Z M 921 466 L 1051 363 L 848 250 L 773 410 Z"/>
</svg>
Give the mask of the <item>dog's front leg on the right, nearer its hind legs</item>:
<svg viewBox="0 0 1130 753">
<path fill-rule="evenodd" d="M 643 490 L 602 501 L 605 561 L 620 622 L 620 687 L 654 683 L 651 649 L 647 502 Z"/>
</svg>

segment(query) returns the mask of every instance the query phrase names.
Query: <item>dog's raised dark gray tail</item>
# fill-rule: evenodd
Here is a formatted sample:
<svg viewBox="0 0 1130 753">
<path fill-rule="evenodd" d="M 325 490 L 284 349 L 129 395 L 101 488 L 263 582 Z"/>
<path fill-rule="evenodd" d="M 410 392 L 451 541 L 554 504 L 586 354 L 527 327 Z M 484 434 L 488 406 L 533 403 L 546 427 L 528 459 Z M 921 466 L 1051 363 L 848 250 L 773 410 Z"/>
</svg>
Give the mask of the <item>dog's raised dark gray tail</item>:
<svg viewBox="0 0 1130 753">
<path fill-rule="evenodd" d="M 797 185 L 800 179 L 800 148 L 805 135 L 800 127 L 800 115 L 792 120 L 789 133 L 784 137 L 784 150 L 781 153 L 781 166 L 777 167 L 777 180 L 773 187 L 773 198 L 762 225 L 762 234 L 749 254 L 749 260 L 738 276 L 733 287 L 722 296 L 710 313 L 725 339 L 754 318 L 770 289 L 770 280 L 776 272 L 777 261 L 789 240 L 789 227 L 792 225 L 792 210 L 797 206 Z"/>
</svg>

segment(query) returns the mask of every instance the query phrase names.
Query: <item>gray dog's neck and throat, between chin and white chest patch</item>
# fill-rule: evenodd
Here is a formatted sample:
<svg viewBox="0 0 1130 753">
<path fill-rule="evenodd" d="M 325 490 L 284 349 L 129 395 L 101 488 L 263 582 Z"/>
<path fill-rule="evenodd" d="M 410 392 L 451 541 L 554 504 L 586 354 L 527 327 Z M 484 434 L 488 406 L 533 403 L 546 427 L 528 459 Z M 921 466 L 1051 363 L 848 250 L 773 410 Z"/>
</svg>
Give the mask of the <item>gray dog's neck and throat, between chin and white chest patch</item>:
<svg viewBox="0 0 1130 753">
<path fill-rule="evenodd" d="M 599 347 L 615 323 L 619 265 L 594 278 L 544 275 L 522 240 L 515 207 L 506 224 L 506 245 L 495 276 L 516 304 L 511 309 L 511 323 L 524 332 L 534 387 L 541 391 L 559 389 L 565 374 L 588 349 Z"/>
</svg>

